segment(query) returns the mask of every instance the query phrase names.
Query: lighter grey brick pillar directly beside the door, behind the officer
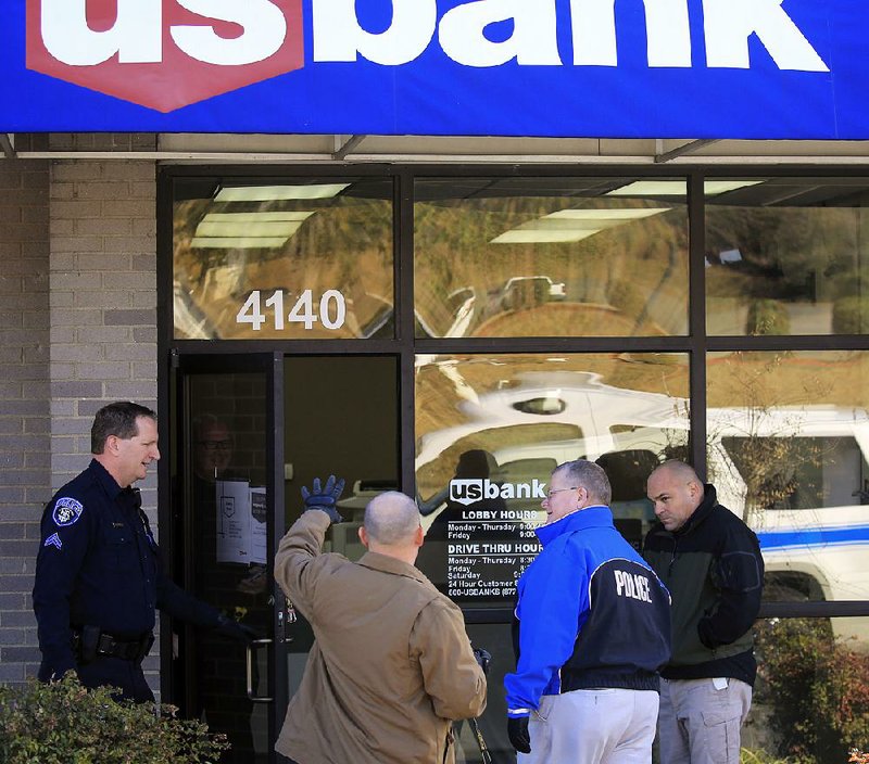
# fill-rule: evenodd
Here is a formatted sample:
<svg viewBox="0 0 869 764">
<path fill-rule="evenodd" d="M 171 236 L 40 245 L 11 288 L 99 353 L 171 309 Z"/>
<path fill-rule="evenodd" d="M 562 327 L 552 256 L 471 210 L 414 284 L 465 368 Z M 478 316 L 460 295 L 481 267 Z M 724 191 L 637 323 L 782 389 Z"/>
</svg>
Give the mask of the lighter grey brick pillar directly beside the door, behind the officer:
<svg viewBox="0 0 869 764">
<path fill-rule="evenodd" d="M 52 489 L 90 461 L 93 415 L 156 408 L 153 162 L 59 162 L 51 171 Z M 156 468 L 138 484 L 156 529 Z M 158 651 L 146 663 L 158 689 Z"/>
</svg>

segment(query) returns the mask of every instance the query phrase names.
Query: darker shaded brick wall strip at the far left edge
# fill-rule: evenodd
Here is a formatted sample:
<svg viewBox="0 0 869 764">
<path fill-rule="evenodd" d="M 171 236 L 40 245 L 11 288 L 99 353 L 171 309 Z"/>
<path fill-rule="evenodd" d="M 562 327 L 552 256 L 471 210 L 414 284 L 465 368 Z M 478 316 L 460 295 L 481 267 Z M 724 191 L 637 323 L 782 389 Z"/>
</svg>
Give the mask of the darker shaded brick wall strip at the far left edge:
<svg viewBox="0 0 869 764">
<path fill-rule="evenodd" d="M 39 651 L 30 604 L 50 496 L 49 165 L 0 160 L 0 683 Z"/>
</svg>

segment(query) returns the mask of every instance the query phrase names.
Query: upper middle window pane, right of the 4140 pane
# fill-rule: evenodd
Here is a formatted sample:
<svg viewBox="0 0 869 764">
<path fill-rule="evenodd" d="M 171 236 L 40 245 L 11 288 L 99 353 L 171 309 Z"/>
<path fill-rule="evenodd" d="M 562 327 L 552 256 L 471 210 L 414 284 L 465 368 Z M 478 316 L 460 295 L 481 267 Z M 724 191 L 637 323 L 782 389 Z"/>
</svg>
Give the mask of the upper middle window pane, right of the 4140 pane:
<svg viewBox="0 0 869 764">
<path fill-rule="evenodd" d="M 684 179 L 418 180 L 417 336 L 688 331 Z"/>
</svg>

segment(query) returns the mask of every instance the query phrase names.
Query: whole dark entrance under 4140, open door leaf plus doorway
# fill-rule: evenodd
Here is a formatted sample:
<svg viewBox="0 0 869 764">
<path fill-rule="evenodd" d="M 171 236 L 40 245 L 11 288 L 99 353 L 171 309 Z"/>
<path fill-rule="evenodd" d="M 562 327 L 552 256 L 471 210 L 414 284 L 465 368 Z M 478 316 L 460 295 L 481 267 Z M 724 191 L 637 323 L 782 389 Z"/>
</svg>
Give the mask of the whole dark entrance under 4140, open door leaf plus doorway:
<svg viewBox="0 0 869 764">
<path fill-rule="evenodd" d="M 396 356 L 182 357 L 173 404 L 175 580 L 261 635 L 247 651 L 173 625 L 173 701 L 231 743 L 222 764 L 280 761 L 274 741 L 314 635 L 273 577 L 301 487 L 344 478 L 325 551 L 357 559 L 371 496 L 400 485 Z M 364 646 L 361 646 L 364 648 Z"/>
</svg>

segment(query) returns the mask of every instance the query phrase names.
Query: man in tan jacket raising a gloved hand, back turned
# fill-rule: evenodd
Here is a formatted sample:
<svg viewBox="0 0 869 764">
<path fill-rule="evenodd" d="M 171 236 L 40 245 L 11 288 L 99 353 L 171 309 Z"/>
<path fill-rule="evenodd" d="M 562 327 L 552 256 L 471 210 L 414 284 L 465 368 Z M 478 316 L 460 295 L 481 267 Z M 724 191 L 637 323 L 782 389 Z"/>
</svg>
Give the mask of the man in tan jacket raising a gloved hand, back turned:
<svg viewBox="0 0 869 764">
<path fill-rule="evenodd" d="M 323 553 L 343 481 L 302 489 L 275 577 L 316 638 L 275 749 L 298 764 L 454 761 L 452 721 L 486 708 L 462 611 L 415 566 L 416 504 L 387 492 L 365 509 L 358 562 Z"/>
</svg>

